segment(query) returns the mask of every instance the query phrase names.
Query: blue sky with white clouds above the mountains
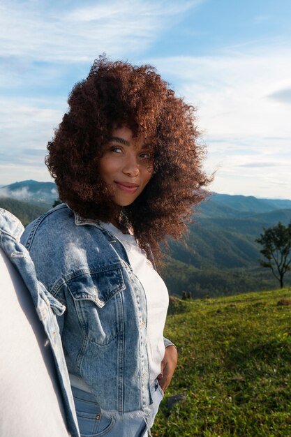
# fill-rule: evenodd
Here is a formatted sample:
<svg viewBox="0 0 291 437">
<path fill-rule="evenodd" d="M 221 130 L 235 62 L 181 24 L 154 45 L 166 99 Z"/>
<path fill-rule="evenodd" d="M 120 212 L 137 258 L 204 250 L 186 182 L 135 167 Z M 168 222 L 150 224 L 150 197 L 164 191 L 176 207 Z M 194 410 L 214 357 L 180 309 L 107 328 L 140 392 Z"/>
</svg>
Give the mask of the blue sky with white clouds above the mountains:
<svg viewBox="0 0 291 437">
<path fill-rule="evenodd" d="M 195 106 L 211 191 L 291 199 L 290 0 L 0 0 L 0 185 L 52 181 L 47 142 L 104 52 Z"/>
</svg>

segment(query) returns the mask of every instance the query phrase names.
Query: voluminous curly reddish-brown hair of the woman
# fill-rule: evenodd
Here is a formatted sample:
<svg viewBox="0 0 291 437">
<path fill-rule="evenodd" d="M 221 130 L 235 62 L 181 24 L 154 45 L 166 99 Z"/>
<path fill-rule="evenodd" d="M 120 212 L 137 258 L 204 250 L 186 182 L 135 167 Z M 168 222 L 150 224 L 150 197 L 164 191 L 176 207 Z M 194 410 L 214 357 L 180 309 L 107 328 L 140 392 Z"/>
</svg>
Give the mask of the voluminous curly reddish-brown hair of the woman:
<svg viewBox="0 0 291 437">
<path fill-rule="evenodd" d="M 112 219 L 115 205 L 97 163 L 113 129 L 127 126 L 135 136 L 154 139 L 154 174 L 123 211 L 141 246 L 150 245 L 159 258 L 160 243 L 181 237 L 210 182 L 202 170 L 195 108 L 175 96 L 153 66 L 112 62 L 105 55 L 75 84 L 68 105 L 45 163 L 60 200 L 84 218 Z"/>
</svg>

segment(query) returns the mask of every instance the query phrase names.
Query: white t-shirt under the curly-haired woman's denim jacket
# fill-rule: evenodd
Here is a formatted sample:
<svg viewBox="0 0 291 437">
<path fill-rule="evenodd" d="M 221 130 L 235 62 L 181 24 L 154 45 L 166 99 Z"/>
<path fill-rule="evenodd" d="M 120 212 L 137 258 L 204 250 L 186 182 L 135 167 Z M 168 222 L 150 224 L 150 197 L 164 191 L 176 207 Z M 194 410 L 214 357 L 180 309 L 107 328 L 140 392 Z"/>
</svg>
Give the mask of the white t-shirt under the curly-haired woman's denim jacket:
<svg viewBox="0 0 291 437">
<path fill-rule="evenodd" d="M 161 361 L 165 355 L 163 330 L 169 305 L 167 287 L 147 259 L 145 251 L 138 246 L 134 235 L 123 234 L 112 223 L 101 223 L 101 225 L 124 244 L 133 273 L 142 283 L 147 297 L 149 376 L 150 383 L 153 383 L 161 373 Z"/>
</svg>

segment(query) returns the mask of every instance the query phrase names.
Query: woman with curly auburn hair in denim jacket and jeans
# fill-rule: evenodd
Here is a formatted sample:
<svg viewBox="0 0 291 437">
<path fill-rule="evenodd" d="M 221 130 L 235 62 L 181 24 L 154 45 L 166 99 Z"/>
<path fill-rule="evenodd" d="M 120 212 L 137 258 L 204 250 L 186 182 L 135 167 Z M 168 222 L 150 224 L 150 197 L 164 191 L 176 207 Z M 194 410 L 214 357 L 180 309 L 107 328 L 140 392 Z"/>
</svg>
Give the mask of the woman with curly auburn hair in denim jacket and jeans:
<svg viewBox="0 0 291 437">
<path fill-rule="evenodd" d="M 46 163 L 66 202 L 22 242 L 66 305 L 59 327 L 83 436 L 146 436 L 177 364 L 154 268 L 208 179 L 193 108 L 151 66 L 99 57 L 73 88 Z"/>
</svg>

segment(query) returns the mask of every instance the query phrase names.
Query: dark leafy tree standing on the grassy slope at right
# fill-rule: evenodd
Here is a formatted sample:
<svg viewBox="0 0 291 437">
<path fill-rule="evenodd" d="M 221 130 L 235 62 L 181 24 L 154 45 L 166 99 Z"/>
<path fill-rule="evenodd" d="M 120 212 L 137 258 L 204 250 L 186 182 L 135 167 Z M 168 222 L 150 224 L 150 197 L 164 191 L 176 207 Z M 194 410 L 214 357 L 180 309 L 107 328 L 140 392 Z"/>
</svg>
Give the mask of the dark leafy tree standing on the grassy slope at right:
<svg viewBox="0 0 291 437">
<path fill-rule="evenodd" d="M 255 241 L 262 245 L 260 253 L 266 260 L 260 260 L 262 267 L 268 267 L 283 288 L 283 278 L 291 270 L 291 222 L 284 226 L 281 221 L 264 232 Z"/>
</svg>

